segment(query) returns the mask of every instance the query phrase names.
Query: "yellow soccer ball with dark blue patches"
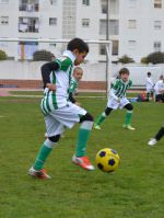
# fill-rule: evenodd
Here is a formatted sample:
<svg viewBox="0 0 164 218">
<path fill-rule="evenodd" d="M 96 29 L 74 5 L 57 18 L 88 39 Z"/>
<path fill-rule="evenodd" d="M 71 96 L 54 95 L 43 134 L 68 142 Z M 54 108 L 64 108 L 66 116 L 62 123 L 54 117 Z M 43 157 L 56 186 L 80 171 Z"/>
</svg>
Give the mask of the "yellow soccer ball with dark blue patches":
<svg viewBox="0 0 164 218">
<path fill-rule="evenodd" d="M 114 149 L 104 148 L 96 153 L 96 165 L 103 172 L 115 171 L 119 165 L 119 156 Z"/>
</svg>

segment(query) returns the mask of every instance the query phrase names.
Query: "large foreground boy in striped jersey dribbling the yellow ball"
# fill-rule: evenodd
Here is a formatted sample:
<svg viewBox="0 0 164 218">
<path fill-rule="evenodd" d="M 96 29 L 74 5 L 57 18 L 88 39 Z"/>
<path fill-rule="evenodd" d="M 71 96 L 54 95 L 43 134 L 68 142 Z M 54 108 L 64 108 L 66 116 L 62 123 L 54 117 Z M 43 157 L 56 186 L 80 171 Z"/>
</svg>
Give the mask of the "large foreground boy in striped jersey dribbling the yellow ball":
<svg viewBox="0 0 164 218">
<path fill-rule="evenodd" d="M 94 170 L 85 154 L 86 142 L 93 126 L 93 117 L 84 108 L 68 101 L 68 90 L 71 81 L 73 65 L 84 61 L 89 46 L 81 38 L 73 38 L 68 43 L 67 50 L 60 58 L 42 67 L 45 87 L 42 111 L 45 115 L 48 138 L 37 153 L 28 174 L 38 179 L 50 179 L 44 169 L 44 163 L 60 139 L 65 127 L 72 128 L 81 123 L 77 140 L 77 152 L 72 161 L 85 170 Z"/>
</svg>

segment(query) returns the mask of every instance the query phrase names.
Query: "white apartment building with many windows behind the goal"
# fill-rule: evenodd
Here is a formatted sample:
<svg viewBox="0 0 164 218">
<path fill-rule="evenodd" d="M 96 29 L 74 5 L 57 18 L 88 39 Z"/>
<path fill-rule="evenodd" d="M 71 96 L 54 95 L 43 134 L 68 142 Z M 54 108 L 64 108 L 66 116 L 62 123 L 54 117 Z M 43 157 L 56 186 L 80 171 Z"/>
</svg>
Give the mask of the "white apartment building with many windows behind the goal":
<svg viewBox="0 0 164 218">
<path fill-rule="evenodd" d="M 125 54 L 140 61 L 164 50 L 164 0 L 0 0 L 2 38 L 106 39 L 107 30 L 113 61 Z M 52 43 L 0 42 L 0 49 L 15 59 L 32 59 L 37 49 L 59 55 L 65 48 Z M 89 60 L 106 60 L 105 45 L 90 48 Z"/>
</svg>

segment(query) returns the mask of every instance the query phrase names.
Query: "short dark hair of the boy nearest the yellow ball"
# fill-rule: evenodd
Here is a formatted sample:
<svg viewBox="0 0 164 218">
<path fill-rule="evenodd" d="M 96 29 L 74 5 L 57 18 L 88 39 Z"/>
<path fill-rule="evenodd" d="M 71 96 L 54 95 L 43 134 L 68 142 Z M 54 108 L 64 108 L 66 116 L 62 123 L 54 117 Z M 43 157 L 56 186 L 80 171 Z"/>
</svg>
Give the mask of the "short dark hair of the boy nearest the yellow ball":
<svg viewBox="0 0 164 218">
<path fill-rule="evenodd" d="M 81 38 L 73 38 L 71 39 L 68 45 L 67 45 L 67 49 L 73 51 L 74 49 L 78 49 L 79 53 L 83 53 L 86 51 L 89 53 L 89 46 L 87 44 L 81 39 Z"/>
</svg>

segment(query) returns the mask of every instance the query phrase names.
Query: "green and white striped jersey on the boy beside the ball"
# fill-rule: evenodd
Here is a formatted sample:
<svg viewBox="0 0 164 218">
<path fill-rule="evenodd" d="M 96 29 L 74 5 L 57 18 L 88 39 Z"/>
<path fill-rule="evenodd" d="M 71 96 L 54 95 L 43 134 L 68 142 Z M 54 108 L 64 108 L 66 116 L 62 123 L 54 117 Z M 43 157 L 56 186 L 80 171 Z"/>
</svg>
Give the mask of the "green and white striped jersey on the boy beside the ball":
<svg viewBox="0 0 164 218">
<path fill-rule="evenodd" d="M 55 60 L 59 65 L 59 69 L 50 73 L 50 83 L 56 85 L 56 91 L 45 89 L 42 100 L 42 111 L 45 115 L 67 105 L 74 59 L 74 55 L 70 50 L 66 50 L 60 58 Z"/>
</svg>

